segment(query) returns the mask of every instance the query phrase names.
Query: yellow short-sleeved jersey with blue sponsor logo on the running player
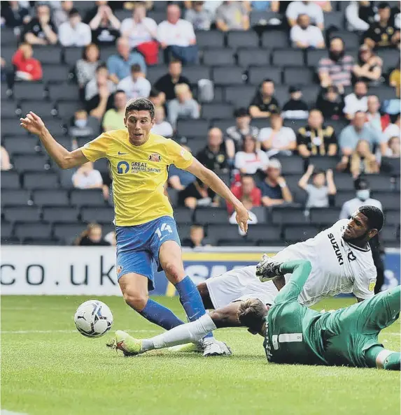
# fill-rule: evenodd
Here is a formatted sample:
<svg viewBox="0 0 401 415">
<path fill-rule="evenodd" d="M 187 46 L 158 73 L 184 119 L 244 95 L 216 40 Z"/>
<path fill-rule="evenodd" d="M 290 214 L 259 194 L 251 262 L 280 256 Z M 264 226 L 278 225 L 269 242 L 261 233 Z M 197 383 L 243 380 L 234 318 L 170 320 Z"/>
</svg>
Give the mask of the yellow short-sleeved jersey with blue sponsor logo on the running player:
<svg viewBox="0 0 401 415">
<path fill-rule="evenodd" d="M 187 168 L 192 154 L 173 140 L 150 133 L 143 145 L 129 143 L 127 130 L 113 130 L 81 149 L 90 161 L 108 159 L 113 176 L 115 225 L 134 226 L 162 216 L 173 217 L 164 195 L 170 164 Z"/>
</svg>

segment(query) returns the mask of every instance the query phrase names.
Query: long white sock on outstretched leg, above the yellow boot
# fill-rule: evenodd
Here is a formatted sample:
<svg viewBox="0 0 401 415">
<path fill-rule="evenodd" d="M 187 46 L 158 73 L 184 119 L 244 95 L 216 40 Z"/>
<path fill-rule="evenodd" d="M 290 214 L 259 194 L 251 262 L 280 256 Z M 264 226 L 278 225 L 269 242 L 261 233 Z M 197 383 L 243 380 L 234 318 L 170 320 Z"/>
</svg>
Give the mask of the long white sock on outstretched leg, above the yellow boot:
<svg viewBox="0 0 401 415">
<path fill-rule="evenodd" d="M 207 333 L 216 330 L 209 314 L 204 314 L 192 323 L 181 324 L 161 335 L 142 341 L 142 350 L 163 349 L 177 344 L 193 343 L 201 340 Z"/>
</svg>

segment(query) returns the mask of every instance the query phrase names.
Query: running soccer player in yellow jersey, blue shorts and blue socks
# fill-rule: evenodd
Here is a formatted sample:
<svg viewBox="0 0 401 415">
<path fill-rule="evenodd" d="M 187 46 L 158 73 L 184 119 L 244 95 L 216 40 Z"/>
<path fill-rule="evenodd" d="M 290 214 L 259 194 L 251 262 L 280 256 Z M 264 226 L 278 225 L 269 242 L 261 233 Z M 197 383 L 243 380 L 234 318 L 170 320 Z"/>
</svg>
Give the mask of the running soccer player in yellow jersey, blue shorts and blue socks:
<svg viewBox="0 0 401 415">
<path fill-rule="evenodd" d="M 174 164 L 188 170 L 233 205 L 243 231 L 248 228 L 248 211 L 223 181 L 190 152 L 173 140 L 150 132 L 155 123 L 153 103 L 148 99 L 129 101 L 125 108 L 126 129 L 103 133 L 72 152 L 57 143 L 34 112 L 20 121 L 24 129 L 40 138 L 61 168 L 74 168 L 103 157 L 108 159 L 113 175 L 117 276 L 125 302 L 166 330 L 183 323 L 148 296 L 148 290 L 154 289 L 153 263 L 156 262 L 176 287 L 188 319 L 194 321 L 205 314 L 195 284 L 185 276 L 173 210 L 164 195 L 169 166 Z M 203 345 L 204 356 L 230 353 L 211 334 L 203 340 Z"/>
</svg>

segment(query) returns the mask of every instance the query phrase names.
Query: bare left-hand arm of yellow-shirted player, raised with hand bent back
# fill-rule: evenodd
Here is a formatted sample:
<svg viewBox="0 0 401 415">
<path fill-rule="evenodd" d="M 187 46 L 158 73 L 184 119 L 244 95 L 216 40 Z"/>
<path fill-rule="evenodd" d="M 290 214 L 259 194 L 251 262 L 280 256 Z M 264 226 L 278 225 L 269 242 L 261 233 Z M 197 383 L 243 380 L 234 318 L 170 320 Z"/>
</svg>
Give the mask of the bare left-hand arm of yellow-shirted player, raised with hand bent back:
<svg viewBox="0 0 401 415">
<path fill-rule="evenodd" d="M 22 128 L 41 139 L 46 151 L 60 168 L 72 168 L 89 161 L 80 149 L 69 152 L 61 144 L 57 143 L 46 128 L 41 117 L 38 117 L 34 112 L 30 111 L 25 118 L 20 118 L 20 122 Z"/>
</svg>

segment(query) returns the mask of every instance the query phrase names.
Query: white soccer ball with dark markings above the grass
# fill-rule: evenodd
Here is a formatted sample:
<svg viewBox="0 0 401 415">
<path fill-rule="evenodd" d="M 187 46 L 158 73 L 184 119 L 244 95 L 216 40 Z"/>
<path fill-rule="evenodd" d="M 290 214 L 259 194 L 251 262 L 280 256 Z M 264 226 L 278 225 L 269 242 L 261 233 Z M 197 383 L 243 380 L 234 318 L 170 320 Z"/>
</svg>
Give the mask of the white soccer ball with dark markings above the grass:
<svg viewBox="0 0 401 415">
<path fill-rule="evenodd" d="M 76 329 L 86 337 L 100 337 L 110 330 L 113 324 L 111 310 L 98 300 L 82 303 L 73 319 Z"/>
</svg>

